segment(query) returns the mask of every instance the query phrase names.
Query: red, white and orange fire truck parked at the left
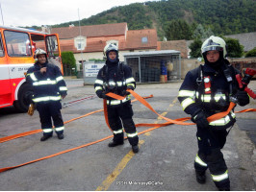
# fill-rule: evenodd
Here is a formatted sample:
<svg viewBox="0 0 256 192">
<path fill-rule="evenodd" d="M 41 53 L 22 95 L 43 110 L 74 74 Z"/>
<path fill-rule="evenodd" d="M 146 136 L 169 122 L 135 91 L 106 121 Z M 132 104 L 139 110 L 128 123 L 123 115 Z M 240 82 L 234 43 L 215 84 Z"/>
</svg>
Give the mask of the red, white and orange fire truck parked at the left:
<svg viewBox="0 0 256 192">
<path fill-rule="evenodd" d="M 31 87 L 25 74 L 34 62 L 34 52 L 46 50 L 48 60 L 63 71 L 59 36 L 36 30 L 0 26 L 0 108 L 14 106 L 27 111 Z"/>
</svg>

